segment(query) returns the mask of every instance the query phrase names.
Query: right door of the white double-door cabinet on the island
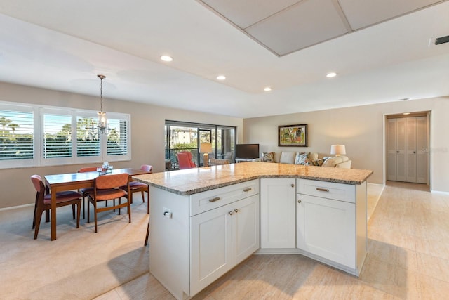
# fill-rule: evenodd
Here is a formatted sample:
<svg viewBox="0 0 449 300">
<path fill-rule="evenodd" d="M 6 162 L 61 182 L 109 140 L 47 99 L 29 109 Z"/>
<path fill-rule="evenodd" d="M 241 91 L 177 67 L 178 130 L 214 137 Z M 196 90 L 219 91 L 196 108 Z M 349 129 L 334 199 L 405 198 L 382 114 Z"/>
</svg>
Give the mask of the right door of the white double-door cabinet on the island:
<svg viewBox="0 0 449 300">
<path fill-rule="evenodd" d="M 259 195 L 234 204 L 232 214 L 232 266 L 259 249 Z"/>
</svg>

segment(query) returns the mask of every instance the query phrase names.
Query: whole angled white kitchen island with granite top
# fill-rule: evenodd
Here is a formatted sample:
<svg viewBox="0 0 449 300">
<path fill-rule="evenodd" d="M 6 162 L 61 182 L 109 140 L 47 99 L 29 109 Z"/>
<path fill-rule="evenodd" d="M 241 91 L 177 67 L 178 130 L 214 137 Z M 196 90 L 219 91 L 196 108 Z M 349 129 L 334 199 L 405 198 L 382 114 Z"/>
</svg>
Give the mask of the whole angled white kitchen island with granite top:
<svg viewBox="0 0 449 300">
<path fill-rule="evenodd" d="M 255 252 L 303 254 L 358 275 L 372 173 L 244 162 L 133 176 L 150 187 L 149 270 L 177 299 Z"/>
</svg>

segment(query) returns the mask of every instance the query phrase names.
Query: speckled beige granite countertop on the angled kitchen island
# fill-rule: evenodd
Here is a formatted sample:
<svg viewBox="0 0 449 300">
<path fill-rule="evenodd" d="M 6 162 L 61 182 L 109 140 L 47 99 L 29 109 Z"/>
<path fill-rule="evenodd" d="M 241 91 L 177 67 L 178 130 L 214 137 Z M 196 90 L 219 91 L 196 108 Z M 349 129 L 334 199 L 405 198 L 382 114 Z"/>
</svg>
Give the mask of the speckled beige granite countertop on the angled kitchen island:
<svg viewBox="0 0 449 300">
<path fill-rule="evenodd" d="M 366 181 L 371 174 L 373 174 L 373 171 L 362 169 L 314 167 L 271 162 L 241 162 L 239 164 L 142 174 L 133 176 L 133 179 L 177 195 L 191 195 L 258 178 L 305 178 L 356 185 Z"/>
</svg>

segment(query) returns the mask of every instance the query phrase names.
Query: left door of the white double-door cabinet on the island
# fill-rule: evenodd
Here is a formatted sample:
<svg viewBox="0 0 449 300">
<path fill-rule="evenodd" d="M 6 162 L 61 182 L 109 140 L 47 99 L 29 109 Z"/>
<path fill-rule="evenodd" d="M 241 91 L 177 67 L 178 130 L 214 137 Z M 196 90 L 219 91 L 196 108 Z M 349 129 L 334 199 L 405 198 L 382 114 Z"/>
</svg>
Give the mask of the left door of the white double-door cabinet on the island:
<svg viewBox="0 0 449 300">
<path fill-rule="evenodd" d="M 190 294 L 232 268 L 232 204 L 190 218 Z M 167 249 L 170 251 L 170 249 Z"/>
</svg>

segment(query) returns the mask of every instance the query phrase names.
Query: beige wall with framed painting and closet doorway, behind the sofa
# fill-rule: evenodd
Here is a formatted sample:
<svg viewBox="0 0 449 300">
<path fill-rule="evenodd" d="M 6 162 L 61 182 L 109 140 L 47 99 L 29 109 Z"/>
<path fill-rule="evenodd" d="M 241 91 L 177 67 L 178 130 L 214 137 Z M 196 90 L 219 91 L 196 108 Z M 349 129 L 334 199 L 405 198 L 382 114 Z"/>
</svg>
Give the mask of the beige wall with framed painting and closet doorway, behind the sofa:
<svg viewBox="0 0 449 300">
<path fill-rule="evenodd" d="M 335 110 L 243 120 L 243 141 L 260 143 L 260 152 L 295 150 L 329 153 L 346 145 L 352 167 L 371 169 L 368 182 L 384 184 L 384 118 L 401 112 L 431 112 L 431 189 L 449 192 L 449 97 L 409 100 Z M 308 124 L 308 147 L 278 147 L 279 125 Z"/>
</svg>

